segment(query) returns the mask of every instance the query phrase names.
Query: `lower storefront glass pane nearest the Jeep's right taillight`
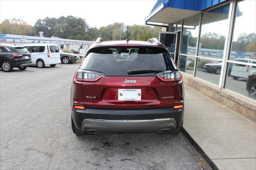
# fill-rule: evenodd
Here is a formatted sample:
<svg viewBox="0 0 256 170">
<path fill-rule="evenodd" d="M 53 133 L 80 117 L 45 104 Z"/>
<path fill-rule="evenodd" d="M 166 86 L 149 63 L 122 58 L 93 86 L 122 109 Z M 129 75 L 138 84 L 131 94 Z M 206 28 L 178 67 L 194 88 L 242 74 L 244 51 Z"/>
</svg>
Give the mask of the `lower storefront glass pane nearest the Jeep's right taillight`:
<svg viewBox="0 0 256 170">
<path fill-rule="evenodd" d="M 195 57 L 188 57 L 180 55 L 180 71 L 193 75 L 194 72 Z"/>
</svg>

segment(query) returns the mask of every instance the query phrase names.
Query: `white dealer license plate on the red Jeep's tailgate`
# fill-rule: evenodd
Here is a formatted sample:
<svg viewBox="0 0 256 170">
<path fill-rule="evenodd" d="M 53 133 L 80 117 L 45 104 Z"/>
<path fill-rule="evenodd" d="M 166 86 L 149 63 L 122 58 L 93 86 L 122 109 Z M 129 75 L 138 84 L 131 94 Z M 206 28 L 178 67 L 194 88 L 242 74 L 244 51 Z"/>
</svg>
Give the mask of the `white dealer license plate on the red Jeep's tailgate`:
<svg viewBox="0 0 256 170">
<path fill-rule="evenodd" d="M 141 100 L 141 89 L 118 89 L 118 100 L 120 101 Z"/>
</svg>

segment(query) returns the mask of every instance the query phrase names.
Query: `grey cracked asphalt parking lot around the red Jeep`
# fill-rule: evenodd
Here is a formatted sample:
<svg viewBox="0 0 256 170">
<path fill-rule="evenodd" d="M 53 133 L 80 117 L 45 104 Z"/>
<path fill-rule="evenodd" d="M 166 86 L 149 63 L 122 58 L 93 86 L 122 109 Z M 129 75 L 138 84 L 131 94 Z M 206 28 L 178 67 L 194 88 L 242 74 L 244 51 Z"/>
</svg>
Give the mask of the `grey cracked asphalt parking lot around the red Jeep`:
<svg viewBox="0 0 256 170">
<path fill-rule="evenodd" d="M 73 134 L 79 64 L 0 70 L 0 169 L 208 169 L 182 134 Z"/>
</svg>

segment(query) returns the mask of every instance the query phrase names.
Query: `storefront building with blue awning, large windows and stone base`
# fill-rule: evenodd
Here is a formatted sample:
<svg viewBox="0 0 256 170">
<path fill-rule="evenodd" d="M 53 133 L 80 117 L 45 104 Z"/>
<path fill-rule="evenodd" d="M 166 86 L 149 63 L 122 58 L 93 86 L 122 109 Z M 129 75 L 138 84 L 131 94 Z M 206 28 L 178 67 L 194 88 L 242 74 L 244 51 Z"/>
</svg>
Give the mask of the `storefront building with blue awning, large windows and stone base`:
<svg viewBox="0 0 256 170">
<path fill-rule="evenodd" d="M 255 121 L 255 0 L 158 0 L 145 21 L 163 28 L 187 85 Z"/>
</svg>

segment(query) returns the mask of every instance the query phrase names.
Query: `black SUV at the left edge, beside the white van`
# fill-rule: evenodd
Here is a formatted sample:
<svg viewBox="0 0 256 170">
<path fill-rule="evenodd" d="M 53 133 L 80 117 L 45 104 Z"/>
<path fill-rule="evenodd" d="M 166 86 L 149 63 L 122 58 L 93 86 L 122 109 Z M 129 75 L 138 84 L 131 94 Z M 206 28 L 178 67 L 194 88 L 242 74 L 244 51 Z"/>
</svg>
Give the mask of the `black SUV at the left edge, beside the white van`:
<svg viewBox="0 0 256 170">
<path fill-rule="evenodd" d="M 14 67 L 24 70 L 31 64 L 30 53 L 25 47 L 0 44 L 0 67 L 3 71 L 10 72 Z"/>
</svg>

